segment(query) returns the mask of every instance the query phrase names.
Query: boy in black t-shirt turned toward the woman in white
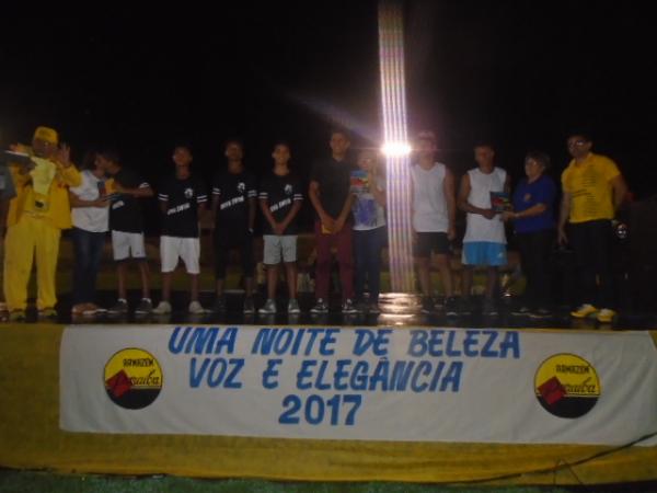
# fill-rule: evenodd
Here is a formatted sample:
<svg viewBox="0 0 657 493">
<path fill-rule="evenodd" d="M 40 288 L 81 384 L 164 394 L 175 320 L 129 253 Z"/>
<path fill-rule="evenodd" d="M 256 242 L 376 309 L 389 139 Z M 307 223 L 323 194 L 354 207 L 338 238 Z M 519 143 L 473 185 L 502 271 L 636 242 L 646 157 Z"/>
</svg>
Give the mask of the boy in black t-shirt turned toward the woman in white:
<svg viewBox="0 0 657 493">
<path fill-rule="evenodd" d="M 111 180 L 106 183 L 110 205 L 110 230 L 112 231 L 112 251 L 118 274 L 118 299 L 108 312 L 125 314 L 128 311 L 126 289 L 126 263 L 137 261 L 141 276 L 141 301 L 135 309 L 138 314 L 150 313 L 149 271 L 143 244 L 143 215 L 139 198 L 152 197 L 153 191 L 148 182 L 141 180 L 131 170 L 122 167 L 118 154 L 113 151 L 99 153 L 99 163 Z"/>
</svg>

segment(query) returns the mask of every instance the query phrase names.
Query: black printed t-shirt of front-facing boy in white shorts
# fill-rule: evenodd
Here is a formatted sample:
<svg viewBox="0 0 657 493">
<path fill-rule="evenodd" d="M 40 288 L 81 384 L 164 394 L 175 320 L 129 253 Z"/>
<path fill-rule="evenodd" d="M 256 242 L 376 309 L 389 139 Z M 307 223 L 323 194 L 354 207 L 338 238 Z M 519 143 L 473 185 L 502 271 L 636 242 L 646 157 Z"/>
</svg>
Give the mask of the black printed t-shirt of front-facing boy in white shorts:
<svg viewBox="0 0 657 493">
<path fill-rule="evenodd" d="M 158 198 L 166 203 L 162 236 L 198 238 L 198 205 L 208 200 L 200 180 L 196 176 L 184 180 L 169 176 L 160 185 Z"/>
</svg>

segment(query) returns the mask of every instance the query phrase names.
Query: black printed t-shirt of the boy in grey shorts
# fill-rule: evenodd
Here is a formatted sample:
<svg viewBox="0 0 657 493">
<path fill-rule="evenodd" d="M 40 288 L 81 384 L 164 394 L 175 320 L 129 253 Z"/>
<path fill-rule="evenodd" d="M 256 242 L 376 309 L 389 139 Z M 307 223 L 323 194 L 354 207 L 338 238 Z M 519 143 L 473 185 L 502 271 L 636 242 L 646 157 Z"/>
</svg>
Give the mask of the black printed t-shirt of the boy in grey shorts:
<svg viewBox="0 0 657 493">
<path fill-rule="evenodd" d="M 258 198 L 267 200 L 269 210 L 276 222 L 283 222 L 287 217 L 296 200 L 303 200 L 301 181 L 297 175 L 288 173 L 285 176 L 274 172 L 265 175 L 260 185 Z M 288 225 L 284 234 L 297 234 L 297 217 Z M 265 219 L 263 226 L 264 234 L 275 234 L 272 225 Z"/>
</svg>

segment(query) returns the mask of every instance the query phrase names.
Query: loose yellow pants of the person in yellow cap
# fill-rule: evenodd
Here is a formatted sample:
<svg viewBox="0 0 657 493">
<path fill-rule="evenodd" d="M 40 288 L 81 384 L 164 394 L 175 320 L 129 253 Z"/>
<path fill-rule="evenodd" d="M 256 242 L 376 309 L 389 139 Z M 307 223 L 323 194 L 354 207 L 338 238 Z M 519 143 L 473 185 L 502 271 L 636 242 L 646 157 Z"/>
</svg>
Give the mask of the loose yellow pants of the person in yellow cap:
<svg viewBox="0 0 657 493">
<path fill-rule="evenodd" d="M 47 219 L 24 214 L 7 228 L 4 237 L 4 299 L 9 310 L 27 307 L 27 284 L 36 256 L 36 307 L 53 308 L 57 302 L 55 275 L 61 230 Z"/>
</svg>

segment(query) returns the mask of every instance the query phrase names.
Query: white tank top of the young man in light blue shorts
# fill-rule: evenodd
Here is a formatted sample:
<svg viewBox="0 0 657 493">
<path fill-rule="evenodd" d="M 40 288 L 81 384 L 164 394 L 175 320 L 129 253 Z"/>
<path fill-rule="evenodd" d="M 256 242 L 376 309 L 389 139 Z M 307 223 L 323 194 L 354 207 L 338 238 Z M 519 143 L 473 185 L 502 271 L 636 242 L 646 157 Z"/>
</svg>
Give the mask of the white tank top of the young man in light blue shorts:
<svg viewBox="0 0 657 493">
<path fill-rule="evenodd" d="M 470 176 L 470 195 L 468 202 L 482 209 L 491 208 L 491 192 L 504 192 L 506 171 L 493 168 L 491 173 L 482 173 L 479 168 L 468 172 Z M 463 243 L 486 241 L 492 243 L 506 243 L 502 214 L 496 214 L 493 219 L 486 219 L 481 214 L 468 213 L 468 226 Z"/>
</svg>

